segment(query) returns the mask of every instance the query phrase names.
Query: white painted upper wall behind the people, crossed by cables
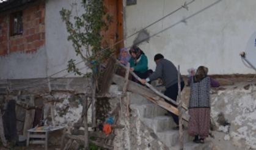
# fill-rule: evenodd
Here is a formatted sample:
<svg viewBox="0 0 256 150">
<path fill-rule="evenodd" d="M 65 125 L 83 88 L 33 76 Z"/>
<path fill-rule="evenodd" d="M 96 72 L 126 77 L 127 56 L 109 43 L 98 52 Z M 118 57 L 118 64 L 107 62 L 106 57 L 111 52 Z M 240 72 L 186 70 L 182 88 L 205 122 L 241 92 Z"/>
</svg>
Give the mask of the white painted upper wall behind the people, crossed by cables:
<svg viewBox="0 0 256 150">
<path fill-rule="evenodd" d="M 126 36 L 173 12 L 184 2 L 137 0 L 136 5 L 126 6 Z M 188 7 L 147 28 L 153 35 L 170 27 L 139 45 L 148 56 L 150 68 L 155 69 L 153 56 L 162 53 L 175 65 L 181 65 L 182 74 L 199 65 L 208 66 L 210 74 L 255 73 L 244 66 L 239 55 L 256 30 L 255 0 L 196 0 Z M 180 22 L 184 18 L 186 24 Z M 134 38 L 127 39 L 125 45 L 131 46 Z"/>
</svg>

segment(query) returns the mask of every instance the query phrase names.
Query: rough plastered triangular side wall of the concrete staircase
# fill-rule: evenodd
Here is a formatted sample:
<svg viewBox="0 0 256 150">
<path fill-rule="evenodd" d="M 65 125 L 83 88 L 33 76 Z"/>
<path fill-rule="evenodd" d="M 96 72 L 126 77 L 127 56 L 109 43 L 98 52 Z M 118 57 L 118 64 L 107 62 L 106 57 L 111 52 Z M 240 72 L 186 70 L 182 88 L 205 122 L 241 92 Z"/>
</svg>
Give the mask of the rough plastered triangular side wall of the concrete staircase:
<svg viewBox="0 0 256 150">
<path fill-rule="evenodd" d="M 168 148 L 158 140 L 158 137 L 139 120 L 138 114 L 133 113 L 130 118 L 123 118 L 120 124 L 125 125 L 124 129 L 115 130 L 114 149 L 147 149 L 167 150 Z"/>
</svg>

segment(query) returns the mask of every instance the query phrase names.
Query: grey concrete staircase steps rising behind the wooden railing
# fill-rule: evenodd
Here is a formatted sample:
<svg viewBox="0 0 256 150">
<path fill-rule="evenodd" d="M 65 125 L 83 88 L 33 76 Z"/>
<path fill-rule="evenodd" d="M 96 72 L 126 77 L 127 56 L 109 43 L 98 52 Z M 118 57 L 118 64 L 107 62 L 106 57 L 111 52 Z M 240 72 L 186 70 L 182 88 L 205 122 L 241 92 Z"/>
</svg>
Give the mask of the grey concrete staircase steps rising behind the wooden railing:
<svg viewBox="0 0 256 150">
<path fill-rule="evenodd" d="M 167 112 L 166 110 L 134 93 L 130 94 L 130 108 L 138 114 L 140 120 L 150 127 L 159 140 L 170 150 L 180 148 L 178 130 L 172 129 L 176 125 L 172 117 L 164 115 Z M 183 138 L 185 150 L 209 150 L 212 147 L 210 140 L 206 140 L 204 144 L 193 143 L 193 137 L 188 135 L 186 129 Z"/>
</svg>

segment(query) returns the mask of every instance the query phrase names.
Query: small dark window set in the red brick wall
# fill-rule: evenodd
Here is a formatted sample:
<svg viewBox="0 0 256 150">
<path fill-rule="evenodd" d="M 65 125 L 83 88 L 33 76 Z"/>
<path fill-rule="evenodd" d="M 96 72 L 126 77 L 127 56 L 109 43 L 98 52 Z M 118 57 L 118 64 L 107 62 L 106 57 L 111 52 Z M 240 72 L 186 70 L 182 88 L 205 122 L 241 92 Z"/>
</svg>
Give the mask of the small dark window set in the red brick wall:
<svg viewBox="0 0 256 150">
<path fill-rule="evenodd" d="M 23 33 L 22 12 L 15 12 L 10 15 L 10 35 Z"/>
</svg>

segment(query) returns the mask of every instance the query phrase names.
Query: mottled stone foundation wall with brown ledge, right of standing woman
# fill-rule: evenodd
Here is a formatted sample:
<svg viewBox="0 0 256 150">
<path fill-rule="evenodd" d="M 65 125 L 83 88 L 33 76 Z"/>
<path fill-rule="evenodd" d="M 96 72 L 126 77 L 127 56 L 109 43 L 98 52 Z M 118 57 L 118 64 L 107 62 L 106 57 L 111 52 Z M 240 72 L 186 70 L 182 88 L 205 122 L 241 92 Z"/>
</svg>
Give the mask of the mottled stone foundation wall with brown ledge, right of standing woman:
<svg viewBox="0 0 256 150">
<path fill-rule="evenodd" d="M 256 81 L 254 78 L 217 79 L 211 89 L 211 134 L 215 149 L 256 149 Z M 236 80 L 236 81 L 235 81 Z M 182 98 L 189 102 L 190 88 Z"/>
</svg>

